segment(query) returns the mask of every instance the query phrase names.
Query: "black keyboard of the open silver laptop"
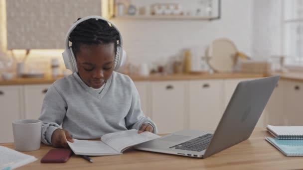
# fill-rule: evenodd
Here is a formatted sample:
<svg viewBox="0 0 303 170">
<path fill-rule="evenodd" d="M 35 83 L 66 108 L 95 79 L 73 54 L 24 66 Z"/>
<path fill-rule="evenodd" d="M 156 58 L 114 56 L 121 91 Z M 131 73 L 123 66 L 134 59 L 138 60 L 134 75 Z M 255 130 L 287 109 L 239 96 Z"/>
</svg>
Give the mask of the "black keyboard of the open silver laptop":
<svg viewBox="0 0 303 170">
<path fill-rule="evenodd" d="M 208 133 L 169 148 L 200 152 L 207 148 L 212 136 L 212 134 Z"/>
</svg>

